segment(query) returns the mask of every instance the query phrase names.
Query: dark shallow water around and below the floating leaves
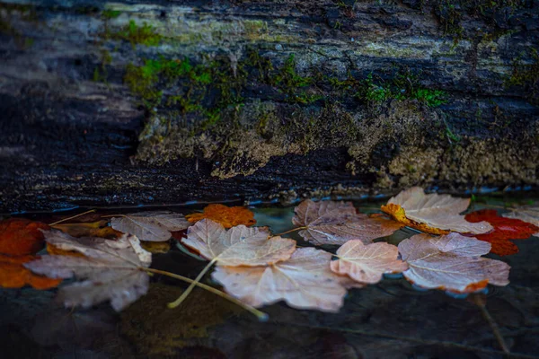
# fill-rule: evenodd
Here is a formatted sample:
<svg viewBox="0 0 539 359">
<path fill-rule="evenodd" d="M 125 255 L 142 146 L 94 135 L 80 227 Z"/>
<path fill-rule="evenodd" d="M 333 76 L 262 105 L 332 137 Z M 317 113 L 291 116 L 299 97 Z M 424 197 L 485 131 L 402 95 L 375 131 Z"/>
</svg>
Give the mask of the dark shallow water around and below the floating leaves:
<svg viewBox="0 0 539 359">
<path fill-rule="evenodd" d="M 531 197 L 536 196 L 480 197 L 473 209 Z M 356 205 L 372 212 L 380 203 Z M 168 209 L 187 214 L 198 208 Z M 273 232 L 293 228 L 292 207 L 252 211 L 257 225 L 269 225 Z M 26 217 L 51 223 L 80 212 L 84 210 Z M 130 212 L 132 208 L 123 213 Z M 413 234 L 404 229 L 384 241 L 397 244 Z M 296 233 L 290 238 L 299 240 Z M 0 346 L 3 357 L 17 358 L 539 358 L 539 239 L 515 243 L 520 250 L 516 255 L 488 256 L 511 266 L 511 283 L 489 286 L 484 296 L 455 298 L 386 277 L 377 285 L 350 290 L 337 314 L 294 310 L 279 302 L 263 308 L 270 314 L 267 322 L 200 289 L 180 307 L 167 309 L 166 303 L 185 285 L 164 276 L 154 276 L 149 293 L 120 313 L 108 303 L 90 310 L 64 309 L 54 300 L 56 290 L 0 289 Z M 152 264 L 190 277 L 204 266 L 174 245 L 167 253 L 154 254 Z M 473 298 L 484 298 L 486 311 Z M 511 356 L 504 356 L 496 331 Z"/>
</svg>

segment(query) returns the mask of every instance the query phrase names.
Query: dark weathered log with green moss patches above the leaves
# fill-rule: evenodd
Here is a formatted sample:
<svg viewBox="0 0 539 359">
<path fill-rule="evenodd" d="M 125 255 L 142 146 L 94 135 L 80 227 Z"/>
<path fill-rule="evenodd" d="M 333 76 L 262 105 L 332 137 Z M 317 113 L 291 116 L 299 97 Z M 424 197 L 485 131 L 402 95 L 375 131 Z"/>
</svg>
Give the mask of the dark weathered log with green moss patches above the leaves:
<svg viewBox="0 0 539 359">
<path fill-rule="evenodd" d="M 0 208 L 536 186 L 537 48 L 536 1 L 4 0 Z"/>
</svg>

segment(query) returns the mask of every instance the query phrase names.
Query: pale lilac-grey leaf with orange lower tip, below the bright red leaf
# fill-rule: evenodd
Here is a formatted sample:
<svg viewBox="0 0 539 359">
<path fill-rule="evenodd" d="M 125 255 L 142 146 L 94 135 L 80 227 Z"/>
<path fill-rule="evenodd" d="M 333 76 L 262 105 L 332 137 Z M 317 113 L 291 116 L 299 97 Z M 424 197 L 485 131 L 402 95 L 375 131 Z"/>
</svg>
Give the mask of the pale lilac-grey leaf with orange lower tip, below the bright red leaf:
<svg viewBox="0 0 539 359">
<path fill-rule="evenodd" d="M 508 264 L 480 257 L 489 251 L 490 243 L 455 232 L 441 237 L 421 233 L 399 243 L 409 266 L 402 273 L 406 279 L 423 288 L 457 293 L 474 292 L 486 283 L 508 285 Z"/>
</svg>

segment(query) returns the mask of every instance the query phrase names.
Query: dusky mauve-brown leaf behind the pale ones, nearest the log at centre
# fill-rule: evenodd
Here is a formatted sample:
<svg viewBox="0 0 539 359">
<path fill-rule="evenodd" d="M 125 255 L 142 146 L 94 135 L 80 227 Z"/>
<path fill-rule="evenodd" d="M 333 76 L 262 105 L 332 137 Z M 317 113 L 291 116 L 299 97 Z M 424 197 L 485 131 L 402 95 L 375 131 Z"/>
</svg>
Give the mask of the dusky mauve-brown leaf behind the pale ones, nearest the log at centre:
<svg viewBox="0 0 539 359">
<path fill-rule="evenodd" d="M 403 224 L 383 218 L 370 218 L 358 214 L 350 202 L 303 201 L 294 209 L 292 223 L 305 227 L 300 231 L 305 241 L 317 245 L 344 244 L 349 240 L 372 240 L 385 237 L 400 229 Z"/>
</svg>

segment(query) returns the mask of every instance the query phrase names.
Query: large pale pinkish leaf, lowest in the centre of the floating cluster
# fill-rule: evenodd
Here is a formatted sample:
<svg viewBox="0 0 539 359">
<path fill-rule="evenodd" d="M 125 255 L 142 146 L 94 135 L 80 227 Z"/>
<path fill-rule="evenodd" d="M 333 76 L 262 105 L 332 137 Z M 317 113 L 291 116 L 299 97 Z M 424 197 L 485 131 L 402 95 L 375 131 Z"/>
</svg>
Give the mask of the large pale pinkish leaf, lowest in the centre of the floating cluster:
<svg viewBox="0 0 539 359">
<path fill-rule="evenodd" d="M 331 272 L 330 261 L 331 253 L 301 248 L 266 267 L 216 267 L 212 277 L 253 307 L 285 301 L 297 309 L 336 312 L 347 291 L 342 276 Z"/>
</svg>

